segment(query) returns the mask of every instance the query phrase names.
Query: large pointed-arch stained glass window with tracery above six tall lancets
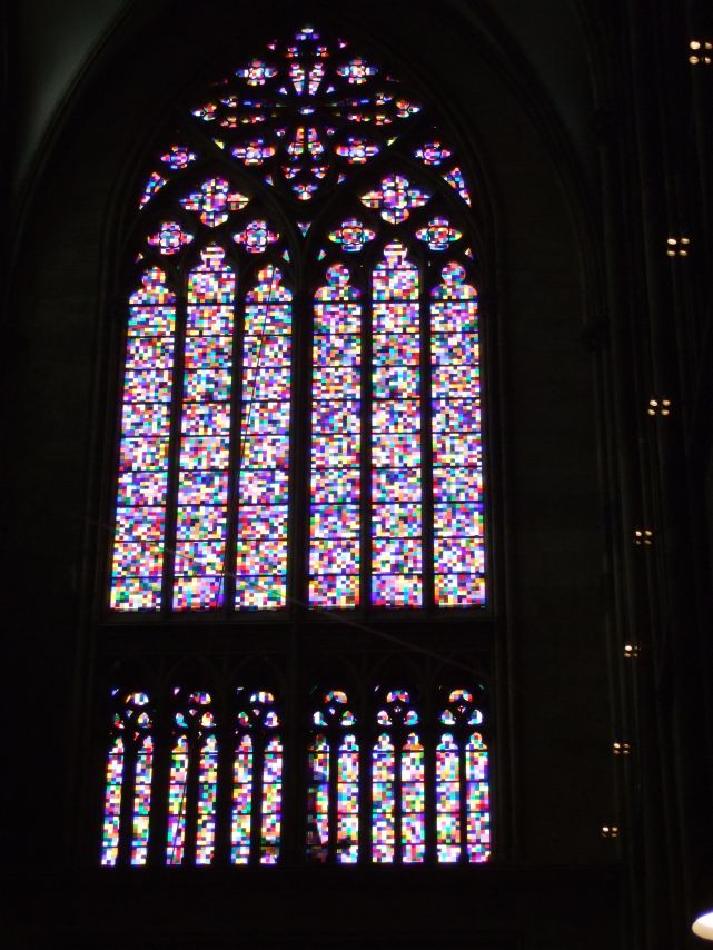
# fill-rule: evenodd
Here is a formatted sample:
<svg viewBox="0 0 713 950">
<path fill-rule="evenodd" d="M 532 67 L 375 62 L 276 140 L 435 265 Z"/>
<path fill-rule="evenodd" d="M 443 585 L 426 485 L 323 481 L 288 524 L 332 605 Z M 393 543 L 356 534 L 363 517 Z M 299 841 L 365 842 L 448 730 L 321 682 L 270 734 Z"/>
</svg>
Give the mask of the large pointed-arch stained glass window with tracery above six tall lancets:
<svg viewBox="0 0 713 950">
<path fill-rule="evenodd" d="M 139 202 L 110 606 L 482 606 L 454 145 L 311 27 L 236 66 L 179 117 Z"/>
</svg>

